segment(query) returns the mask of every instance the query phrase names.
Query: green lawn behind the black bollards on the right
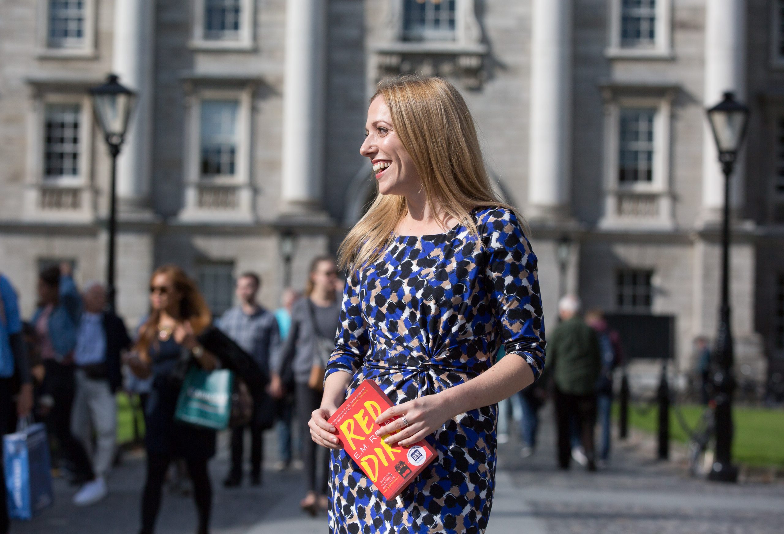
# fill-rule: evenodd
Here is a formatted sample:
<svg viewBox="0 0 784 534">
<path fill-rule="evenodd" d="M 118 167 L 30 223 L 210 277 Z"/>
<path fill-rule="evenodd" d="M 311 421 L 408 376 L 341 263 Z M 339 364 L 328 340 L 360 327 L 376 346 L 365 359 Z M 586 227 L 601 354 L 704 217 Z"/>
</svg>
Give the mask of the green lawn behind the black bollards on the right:
<svg viewBox="0 0 784 534">
<path fill-rule="evenodd" d="M 617 403 L 613 408 L 617 420 Z M 688 427 L 694 427 L 702 416 L 702 406 L 682 405 L 681 413 Z M 658 428 L 658 417 L 655 408 L 630 406 L 629 424 L 632 427 L 654 433 Z M 735 439 L 732 455 L 735 461 L 755 467 L 784 467 L 784 410 L 736 407 L 733 409 L 733 421 Z M 670 438 L 681 443 L 688 442 L 688 435 L 678 423 L 673 409 L 670 409 Z"/>
</svg>

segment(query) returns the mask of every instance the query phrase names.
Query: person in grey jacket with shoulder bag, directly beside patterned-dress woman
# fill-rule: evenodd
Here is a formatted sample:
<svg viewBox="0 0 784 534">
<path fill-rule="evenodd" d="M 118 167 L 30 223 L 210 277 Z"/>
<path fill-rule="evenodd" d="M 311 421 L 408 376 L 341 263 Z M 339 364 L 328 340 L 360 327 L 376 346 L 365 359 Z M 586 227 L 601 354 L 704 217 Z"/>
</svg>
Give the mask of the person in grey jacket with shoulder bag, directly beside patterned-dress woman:
<svg viewBox="0 0 784 534">
<path fill-rule="evenodd" d="M 321 405 L 323 369 L 332 349 L 339 324 L 340 301 L 337 299 L 337 268 L 332 256 L 318 256 L 310 263 L 305 294 L 292 306 L 289 336 L 274 362 L 278 372 L 272 376 L 270 392 L 280 398 L 285 389 L 294 390 L 296 414 L 303 436 L 303 463 L 307 495 L 299 503 L 315 515 L 327 507 L 329 451 L 318 447 L 307 426 L 310 414 Z M 318 371 L 321 370 L 321 376 Z M 321 473 L 317 473 L 317 469 Z M 318 478 L 318 484 L 317 484 Z"/>
</svg>

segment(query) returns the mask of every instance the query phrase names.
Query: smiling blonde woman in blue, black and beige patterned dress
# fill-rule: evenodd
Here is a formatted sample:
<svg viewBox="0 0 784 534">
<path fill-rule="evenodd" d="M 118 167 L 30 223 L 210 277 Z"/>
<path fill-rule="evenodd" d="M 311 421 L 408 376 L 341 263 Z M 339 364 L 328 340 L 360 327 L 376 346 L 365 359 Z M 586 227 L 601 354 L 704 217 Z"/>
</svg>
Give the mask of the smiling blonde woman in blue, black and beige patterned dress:
<svg viewBox="0 0 784 534">
<path fill-rule="evenodd" d="M 341 245 L 350 276 L 313 440 L 334 449 L 329 531 L 485 532 L 497 403 L 544 365 L 536 256 L 496 198 L 463 97 L 440 78 L 382 82 L 361 154 L 379 194 Z M 503 344 L 510 354 L 494 365 Z M 516 355 L 514 357 L 512 355 Z M 374 380 L 394 402 L 390 445 L 428 439 L 437 459 L 387 501 L 327 422 Z M 393 434 L 394 433 L 394 434 Z"/>
</svg>

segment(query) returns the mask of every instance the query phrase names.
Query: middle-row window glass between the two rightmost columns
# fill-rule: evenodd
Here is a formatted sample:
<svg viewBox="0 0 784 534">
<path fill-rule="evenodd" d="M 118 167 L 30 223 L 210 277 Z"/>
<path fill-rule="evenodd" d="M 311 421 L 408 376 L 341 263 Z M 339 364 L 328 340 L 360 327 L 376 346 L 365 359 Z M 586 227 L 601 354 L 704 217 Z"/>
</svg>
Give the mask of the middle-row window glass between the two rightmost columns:
<svg viewBox="0 0 784 534">
<path fill-rule="evenodd" d="M 655 108 L 621 109 L 618 180 L 620 183 L 652 182 Z"/>
</svg>

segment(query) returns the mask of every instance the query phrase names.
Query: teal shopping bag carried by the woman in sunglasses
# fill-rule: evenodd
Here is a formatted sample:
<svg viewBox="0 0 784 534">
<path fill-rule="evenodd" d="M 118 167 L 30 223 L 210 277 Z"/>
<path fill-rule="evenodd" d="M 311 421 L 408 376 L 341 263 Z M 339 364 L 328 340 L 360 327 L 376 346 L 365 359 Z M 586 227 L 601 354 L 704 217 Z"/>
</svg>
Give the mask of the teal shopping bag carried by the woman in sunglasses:
<svg viewBox="0 0 784 534">
<path fill-rule="evenodd" d="M 225 429 L 231 415 L 233 381 L 228 369 L 209 372 L 192 366 L 180 389 L 174 419 L 196 427 Z"/>
</svg>

